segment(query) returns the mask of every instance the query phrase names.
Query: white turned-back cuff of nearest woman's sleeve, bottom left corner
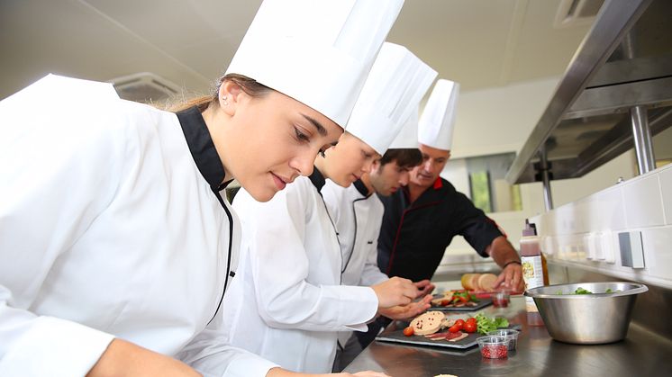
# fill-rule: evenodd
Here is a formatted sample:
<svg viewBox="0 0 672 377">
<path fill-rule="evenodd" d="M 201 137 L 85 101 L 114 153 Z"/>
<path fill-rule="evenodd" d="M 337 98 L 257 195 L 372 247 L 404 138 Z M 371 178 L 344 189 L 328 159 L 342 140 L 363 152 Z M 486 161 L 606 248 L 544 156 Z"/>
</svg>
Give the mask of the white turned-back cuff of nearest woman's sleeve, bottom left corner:
<svg viewBox="0 0 672 377">
<path fill-rule="evenodd" d="M 83 376 L 113 339 L 75 322 L 39 317 L 0 360 L 0 375 Z"/>
</svg>

